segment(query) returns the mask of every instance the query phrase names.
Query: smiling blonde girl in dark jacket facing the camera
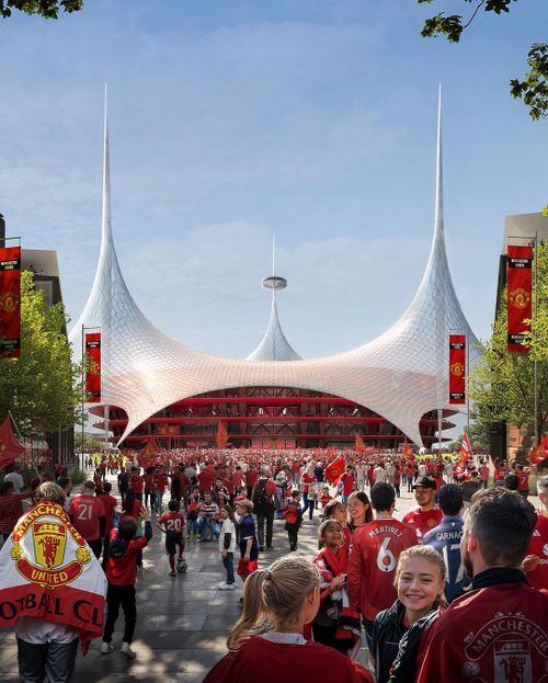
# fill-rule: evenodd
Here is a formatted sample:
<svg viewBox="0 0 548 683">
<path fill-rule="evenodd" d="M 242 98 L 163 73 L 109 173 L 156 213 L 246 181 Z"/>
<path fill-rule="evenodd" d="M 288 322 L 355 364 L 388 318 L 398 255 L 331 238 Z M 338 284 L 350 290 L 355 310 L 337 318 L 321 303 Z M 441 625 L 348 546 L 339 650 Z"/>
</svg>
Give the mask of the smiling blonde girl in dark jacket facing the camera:
<svg viewBox="0 0 548 683">
<path fill-rule="evenodd" d="M 401 553 L 396 569 L 398 600 L 380 612 L 373 625 L 369 648 L 377 683 L 387 683 L 404 633 L 421 617 L 444 603 L 445 562 L 431 546 L 413 546 Z"/>
</svg>

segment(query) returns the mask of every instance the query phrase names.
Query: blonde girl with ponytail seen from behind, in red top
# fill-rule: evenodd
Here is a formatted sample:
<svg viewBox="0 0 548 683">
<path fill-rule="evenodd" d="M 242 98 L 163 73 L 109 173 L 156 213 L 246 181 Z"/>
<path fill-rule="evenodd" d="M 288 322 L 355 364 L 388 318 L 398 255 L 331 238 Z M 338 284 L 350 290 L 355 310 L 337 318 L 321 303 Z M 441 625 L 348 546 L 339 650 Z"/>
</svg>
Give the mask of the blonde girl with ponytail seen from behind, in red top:
<svg viewBox="0 0 548 683">
<path fill-rule="evenodd" d="M 243 587 L 243 613 L 228 637 L 229 653 L 204 683 L 372 682 L 350 658 L 304 637 L 319 605 L 320 573 L 304 555 L 281 557 Z"/>
</svg>

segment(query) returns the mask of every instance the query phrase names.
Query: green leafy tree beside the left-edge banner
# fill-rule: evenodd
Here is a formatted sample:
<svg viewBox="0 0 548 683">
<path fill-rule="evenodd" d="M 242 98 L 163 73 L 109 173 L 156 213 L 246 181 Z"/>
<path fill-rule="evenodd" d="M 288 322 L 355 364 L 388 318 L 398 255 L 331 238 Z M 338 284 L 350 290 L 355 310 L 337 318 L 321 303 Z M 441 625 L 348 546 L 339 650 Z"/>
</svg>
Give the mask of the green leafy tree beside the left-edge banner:
<svg viewBox="0 0 548 683">
<path fill-rule="evenodd" d="M 0 358 L 0 419 L 10 410 L 27 436 L 81 419 L 81 366 L 72 363 L 62 304 L 47 306 L 33 274 L 21 275 L 21 357 Z"/>
</svg>

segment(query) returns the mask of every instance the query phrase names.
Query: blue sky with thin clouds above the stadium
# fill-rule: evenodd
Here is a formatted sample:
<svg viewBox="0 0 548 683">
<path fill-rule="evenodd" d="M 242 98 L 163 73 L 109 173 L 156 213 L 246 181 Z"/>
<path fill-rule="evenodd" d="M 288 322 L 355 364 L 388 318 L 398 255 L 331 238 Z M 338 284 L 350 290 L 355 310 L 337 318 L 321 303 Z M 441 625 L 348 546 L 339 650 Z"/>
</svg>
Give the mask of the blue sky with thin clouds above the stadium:
<svg viewBox="0 0 548 683">
<path fill-rule="evenodd" d="M 244 357 L 278 296 L 304 357 L 390 327 L 434 225 L 438 84 L 445 230 L 463 310 L 492 322 L 504 217 L 548 203 L 548 122 L 510 95 L 548 3 L 481 13 L 458 45 L 420 35 L 463 0 L 87 0 L 0 21 L 0 213 L 58 252 L 76 321 L 101 238 L 103 92 L 112 219 L 142 312 L 194 349 Z"/>
</svg>

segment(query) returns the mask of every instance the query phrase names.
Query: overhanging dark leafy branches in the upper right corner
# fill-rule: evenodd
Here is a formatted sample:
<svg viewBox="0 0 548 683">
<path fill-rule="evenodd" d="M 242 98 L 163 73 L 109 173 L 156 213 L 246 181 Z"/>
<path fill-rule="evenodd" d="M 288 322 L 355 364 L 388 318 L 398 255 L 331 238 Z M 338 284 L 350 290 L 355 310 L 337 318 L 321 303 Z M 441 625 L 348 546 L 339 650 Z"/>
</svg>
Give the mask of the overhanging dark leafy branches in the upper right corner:
<svg viewBox="0 0 548 683">
<path fill-rule="evenodd" d="M 416 0 L 419 4 L 432 3 L 435 0 Z M 458 43 L 463 32 L 473 22 L 478 12 L 494 12 L 502 14 L 510 12 L 510 5 L 517 0 L 464 0 L 473 8 L 467 20 L 459 14 L 446 15 L 439 12 L 424 22 L 421 34 L 424 37 L 445 35 L 449 43 Z M 510 92 L 513 98 L 522 99 L 529 107 L 529 115 L 534 121 L 548 116 L 548 45 L 535 43 L 532 45 L 527 66 L 529 70 L 523 80 L 513 78 L 510 81 Z"/>
</svg>

